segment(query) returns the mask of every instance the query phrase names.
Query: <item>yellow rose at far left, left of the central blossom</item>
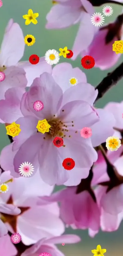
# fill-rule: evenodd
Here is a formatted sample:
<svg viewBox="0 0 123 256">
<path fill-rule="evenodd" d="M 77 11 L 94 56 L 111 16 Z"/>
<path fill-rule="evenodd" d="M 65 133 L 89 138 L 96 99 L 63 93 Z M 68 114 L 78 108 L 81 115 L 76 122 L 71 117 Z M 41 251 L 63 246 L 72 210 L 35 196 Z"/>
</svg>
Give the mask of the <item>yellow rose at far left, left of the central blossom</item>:
<svg viewBox="0 0 123 256">
<path fill-rule="evenodd" d="M 20 124 L 16 124 L 15 122 L 5 126 L 6 130 L 7 130 L 7 135 L 10 135 L 12 137 L 17 136 L 21 129 L 20 129 Z"/>
</svg>

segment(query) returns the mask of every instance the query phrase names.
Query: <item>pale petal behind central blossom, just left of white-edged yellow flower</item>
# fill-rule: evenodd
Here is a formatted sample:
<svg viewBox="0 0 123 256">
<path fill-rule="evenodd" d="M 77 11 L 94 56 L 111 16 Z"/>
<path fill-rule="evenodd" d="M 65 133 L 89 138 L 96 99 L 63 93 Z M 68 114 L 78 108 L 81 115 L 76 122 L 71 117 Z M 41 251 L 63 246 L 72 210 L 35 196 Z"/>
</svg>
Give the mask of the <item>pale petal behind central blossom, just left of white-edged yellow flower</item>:
<svg viewBox="0 0 123 256">
<path fill-rule="evenodd" d="M 104 109 L 96 109 L 99 115 L 99 122 L 91 126 L 92 129 L 92 145 L 93 147 L 99 146 L 101 143 L 105 142 L 109 136 L 114 133 L 115 118 L 112 113 Z M 107 125 L 106 125 L 107 123 Z"/>
</svg>

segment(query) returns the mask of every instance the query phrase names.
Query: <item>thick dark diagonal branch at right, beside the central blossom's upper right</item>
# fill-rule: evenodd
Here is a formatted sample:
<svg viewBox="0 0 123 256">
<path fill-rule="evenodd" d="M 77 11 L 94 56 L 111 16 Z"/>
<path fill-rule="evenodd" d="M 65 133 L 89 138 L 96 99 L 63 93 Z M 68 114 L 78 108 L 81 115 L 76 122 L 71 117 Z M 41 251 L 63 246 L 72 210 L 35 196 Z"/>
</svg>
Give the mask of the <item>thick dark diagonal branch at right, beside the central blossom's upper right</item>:
<svg viewBox="0 0 123 256">
<path fill-rule="evenodd" d="M 98 96 L 96 101 L 103 97 L 103 95 L 111 89 L 114 85 L 118 83 L 123 77 L 123 62 L 111 73 L 108 73 L 107 76 L 96 86 L 95 89 L 98 90 Z M 95 102 L 96 102 L 95 101 Z"/>
</svg>

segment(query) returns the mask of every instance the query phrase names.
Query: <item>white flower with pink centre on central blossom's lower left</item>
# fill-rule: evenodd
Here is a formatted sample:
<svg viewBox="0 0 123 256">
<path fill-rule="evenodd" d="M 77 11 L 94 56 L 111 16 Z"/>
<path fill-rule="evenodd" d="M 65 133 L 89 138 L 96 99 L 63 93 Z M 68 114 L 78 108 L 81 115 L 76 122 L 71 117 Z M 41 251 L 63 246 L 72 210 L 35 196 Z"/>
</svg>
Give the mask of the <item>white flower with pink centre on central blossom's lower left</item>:
<svg viewBox="0 0 123 256">
<path fill-rule="evenodd" d="M 32 166 L 32 163 L 30 164 L 28 162 L 27 163 L 26 162 L 22 163 L 18 170 L 19 170 L 21 176 L 23 175 L 25 177 L 31 176 L 32 172 L 34 172 L 34 168 Z"/>
</svg>

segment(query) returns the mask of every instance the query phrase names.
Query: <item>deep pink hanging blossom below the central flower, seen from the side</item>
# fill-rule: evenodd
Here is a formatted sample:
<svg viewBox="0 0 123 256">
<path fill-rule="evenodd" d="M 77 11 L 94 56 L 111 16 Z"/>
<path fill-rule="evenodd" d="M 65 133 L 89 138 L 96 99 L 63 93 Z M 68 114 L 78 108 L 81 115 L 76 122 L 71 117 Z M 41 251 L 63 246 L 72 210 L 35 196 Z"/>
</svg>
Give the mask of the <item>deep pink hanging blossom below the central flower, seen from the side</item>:
<svg viewBox="0 0 123 256">
<path fill-rule="evenodd" d="M 88 229 L 89 236 L 94 237 L 100 226 L 100 211 L 88 191 L 76 194 L 77 187 L 63 189 L 41 198 L 49 202 L 60 202 L 60 216 L 73 229 Z M 40 205 L 40 199 L 38 201 Z M 68 211 L 69 209 L 69 211 Z"/>
</svg>

